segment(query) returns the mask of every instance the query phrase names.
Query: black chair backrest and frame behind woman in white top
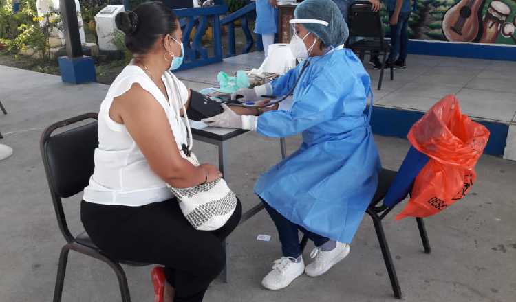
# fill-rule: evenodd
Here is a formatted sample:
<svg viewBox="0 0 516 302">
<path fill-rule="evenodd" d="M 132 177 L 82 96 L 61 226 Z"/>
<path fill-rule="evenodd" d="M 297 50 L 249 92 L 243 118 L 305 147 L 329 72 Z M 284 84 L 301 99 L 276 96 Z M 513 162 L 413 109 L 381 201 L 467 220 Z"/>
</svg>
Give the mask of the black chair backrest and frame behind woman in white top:
<svg viewBox="0 0 516 302">
<path fill-rule="evenodd" d="M 67 242 L 74 237 L 70 233 L 63 211 L 61 198 L 80 193 L 88 185 L 94 170 L 94 154 L 98 146 L 97 121 L 76 128 L 52 133 L 85 119 L 97 119 L 96 113 L 86 113 L 64 121 L 58 121 L 43 131 L 40 141 L 41 157 L 45 166 L 48 186 L 59 229 Z"/>
</svg>

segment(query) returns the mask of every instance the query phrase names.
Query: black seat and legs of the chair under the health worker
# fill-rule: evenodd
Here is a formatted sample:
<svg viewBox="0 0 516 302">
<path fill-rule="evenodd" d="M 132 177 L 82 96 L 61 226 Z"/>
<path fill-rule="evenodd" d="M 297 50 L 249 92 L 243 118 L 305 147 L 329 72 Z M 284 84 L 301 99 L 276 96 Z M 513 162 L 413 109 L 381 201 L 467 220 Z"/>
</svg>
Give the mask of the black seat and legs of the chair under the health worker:
<svg viewBox="0 0 516 302">
<path fill-rule="evenodd" d="M 367 207 L 366 213 L 368 213 L 373 220 L 376 236 L 378 237 L 378 243 L 380 244 L 380 248 L 382 250 L 383 260 L 385 262 L 385 266 L 387 267 L 387 272 L 389 273 L 389 279 L 391 280 L 394 297 L 401 299 L 402 294 L 400 282 L 398 281 L 398 275 L 396 275 L 396 269 L 394 268 L 394 262 L 392 262 L 391 252 L 389 250 L 389 245 L 387 244 L 387 238 L 385 237 L 385 232 L 383 231 L 382 225 L 383 218 L 385 218 L 385 216 L 387 216 L 387 214 L 395 207 L 387 207 L 386 205 L 383 205 L 382 200 L 385 198 L 385 195 L 387 194 L 392 181 L 394 181 L 396 173 L 396 171 L 387 169 L 382 169 L 380 171 L 380 174 L 378 175 L 378 188 L 376 189 L 376 193 L 374 194 L 369 207 Z M 418 224 L 419 233 L 423 243 L 424 253 L 429 254 L 431 252 L 431 248 L 428 240 L 427 229 L 424 227 L 423 219 L 416 218 L 416 222 Z M 308 237 L 303 235 L 303 238 L 301 239 L 301 248 L 304 249 L 307 242 Z"/>
</svg>

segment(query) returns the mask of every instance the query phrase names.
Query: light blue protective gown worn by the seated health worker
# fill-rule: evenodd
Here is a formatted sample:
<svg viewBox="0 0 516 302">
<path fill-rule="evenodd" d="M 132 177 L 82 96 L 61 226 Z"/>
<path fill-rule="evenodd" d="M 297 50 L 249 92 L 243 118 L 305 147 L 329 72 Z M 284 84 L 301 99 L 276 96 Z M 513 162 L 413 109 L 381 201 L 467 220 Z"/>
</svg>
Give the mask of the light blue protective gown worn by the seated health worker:
<svg viewBox="0 0 516 302">
<path fill-rule="evenodd" d="M 257 132 L 302 132 L 299 150 L 262 174 L 255 194 L 308 231 L 350 243 L 376 191 L 380 159 L 368 115 L 369 75 L 350 49 L 310 58 L 290 111 L 258 117 Z M 301 65 L 272 82 L 286 95 Z"/>
</svg>

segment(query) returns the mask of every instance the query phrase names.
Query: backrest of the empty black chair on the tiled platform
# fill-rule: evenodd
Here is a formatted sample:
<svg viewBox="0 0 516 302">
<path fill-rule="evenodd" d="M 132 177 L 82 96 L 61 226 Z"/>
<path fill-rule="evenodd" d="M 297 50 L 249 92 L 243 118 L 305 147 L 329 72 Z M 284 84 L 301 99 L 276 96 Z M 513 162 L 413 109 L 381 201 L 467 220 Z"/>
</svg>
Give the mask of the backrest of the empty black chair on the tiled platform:
<svg viewBox="0 0 516 302">
<path fill-rule="evenodd" d="M 347 18 L 350 37 L 378 38 L 383 41 L 384 32 L 380 12 L 373 12 L 369 1 L 354 2 L 350 6 Z"/>
</svg>

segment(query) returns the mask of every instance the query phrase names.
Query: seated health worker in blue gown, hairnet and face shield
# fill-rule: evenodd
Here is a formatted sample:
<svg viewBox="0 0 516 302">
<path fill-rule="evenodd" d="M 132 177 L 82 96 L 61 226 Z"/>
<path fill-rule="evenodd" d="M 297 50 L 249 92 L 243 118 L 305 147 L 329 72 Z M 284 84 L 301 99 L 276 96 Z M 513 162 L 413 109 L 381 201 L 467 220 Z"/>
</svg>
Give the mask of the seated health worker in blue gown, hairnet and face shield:
<svg viewBox="0 0 516 302">
<path fill-rule="evenodd" d="M 369 75 L 350 49 L 347 25 L 332 0 L 305 0 L 294 11 L 290 48 L 304 61 L 272 84 L 241 89 L 244 100 L 288 95 L 289 110 L 229 108 L 205 119 L 211 126 L 256 130 L 266 137 L 302 133 L 301 148 L 261 175 L 255 193 L 275 222 L 283 257 L 262 285 L 285 288 L 303 271 L 327 272 L 350 243 L 378 185 L 380 159 L 369 117 Z M 259 116 L 255 116 L 259 115 Z M 298 231 L 316 246 L 305 266 Z"/>
</svg>

